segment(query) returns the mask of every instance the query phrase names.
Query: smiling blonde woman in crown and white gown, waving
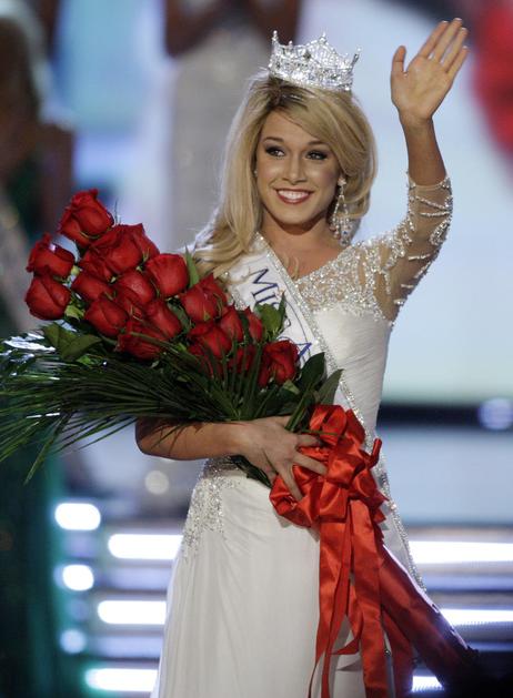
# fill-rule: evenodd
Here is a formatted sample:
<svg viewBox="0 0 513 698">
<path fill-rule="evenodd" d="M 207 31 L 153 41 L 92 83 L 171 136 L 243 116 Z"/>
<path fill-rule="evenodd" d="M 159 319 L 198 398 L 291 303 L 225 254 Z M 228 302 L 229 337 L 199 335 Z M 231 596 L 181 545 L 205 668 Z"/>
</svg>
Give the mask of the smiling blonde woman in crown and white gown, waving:
<svg viewBox="0 0 513 698">
<path fill-rule="evenodd" d="M 335 399 L 356 413 L 368 449 L 395 316 L 449 227 L 451 190 L 432 115 L 465 60 L 465 36 L 461 20 L 440 23 L 406 70 L 404 47 L 396 50 L 392 100 L 409 155 L 408 213 L 389 235 L 358 244 L 350 244 L 351 236 L 369 205 L 375 154 L 350 92 L 355 60 L 339 58 L 335 71 L 312 73 L 304 64 L 312 53 L 321 62 L 333 57 L 324 39 L 308 51 L 274 39 L 270 72 L 250 85 L 228 140 L 213 231 L 197 241 L 198 263 L 224 279 L 237 303 L 274 302 L 285 292 L 286 336 L 305 356 L 324 351 L 330 370 L 343 367 Z M 242 454 L 271 480 L 280 475 L 300 499 L 292 465 L 321 475 L 325 469 L 298 452 L 315 437 L 289 433 L 285 422 L 198 424 L 162 438 L 154 424 L 138 425 L 144 453 L 210 458 L 174 568 L 153 698 L 309 692 L 319 618 L 318 536 L 281 518 L 269 490 L 247 479 L 229 457 Z M 386 547 L 418 578 L 382 461 L 374 471 L 389 497 L 382 506 Z M 340 644 L 350 639 L 344 621 Z M 368 695 L 408 691 L 408 681 L 393 687 L 390 671 L 386 682 L 385 692 Z M 332 696 L 365 695 L 358 653 L 333 657 L 330 687 Z"/>
</svg>

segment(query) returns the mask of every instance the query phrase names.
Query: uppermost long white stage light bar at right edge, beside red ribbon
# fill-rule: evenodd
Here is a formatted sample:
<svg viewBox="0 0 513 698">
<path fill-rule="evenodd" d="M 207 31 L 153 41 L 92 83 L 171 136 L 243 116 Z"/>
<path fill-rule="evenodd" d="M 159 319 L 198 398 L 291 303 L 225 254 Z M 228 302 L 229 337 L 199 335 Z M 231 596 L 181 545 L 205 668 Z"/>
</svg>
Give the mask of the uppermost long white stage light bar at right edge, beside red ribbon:
<svg viewBox="0 0 513 698">
<path fill-rule="evenodd" d="M 513 543 L 410 540 L 410 547 L 418 565 L 513 563 Z"/>
</svg>

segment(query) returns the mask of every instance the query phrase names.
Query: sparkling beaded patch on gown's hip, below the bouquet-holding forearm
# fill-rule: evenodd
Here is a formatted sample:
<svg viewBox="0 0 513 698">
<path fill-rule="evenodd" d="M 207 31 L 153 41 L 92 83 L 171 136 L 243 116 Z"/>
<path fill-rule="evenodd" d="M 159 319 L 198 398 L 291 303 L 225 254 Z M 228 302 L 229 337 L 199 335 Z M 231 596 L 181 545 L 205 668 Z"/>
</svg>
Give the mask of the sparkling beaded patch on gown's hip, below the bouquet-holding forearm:
<svg viewBox="0 0 513 698">
<path fill-rule="evenodd" d="M 180 554 L 184 559 L 198 552 L 204 530 L 224 535 L 222 493 L 235 487 L 238 479 L 230 474 L 241 474 L 230 458 L 210 458 L 194 487 L 183 527 Z"/>
</svg>

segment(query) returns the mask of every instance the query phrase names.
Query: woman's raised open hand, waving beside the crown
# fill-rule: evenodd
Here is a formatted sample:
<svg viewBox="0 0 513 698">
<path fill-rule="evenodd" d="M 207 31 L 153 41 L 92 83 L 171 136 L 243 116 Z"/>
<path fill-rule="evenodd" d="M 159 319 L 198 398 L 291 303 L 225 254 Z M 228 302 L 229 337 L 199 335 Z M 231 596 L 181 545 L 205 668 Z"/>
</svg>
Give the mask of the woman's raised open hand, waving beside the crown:
<svg viewBox="0 0 513 698">
<path fill-rule="evenodd" d="M 404 70 L 405 47 L 392 59 L 392 102 L 403 125 L 422 125 L 431 120 L 450 91 L 469 54 L 463 45 L 467 30 L 461 19 L 440 22 Z"/>
</svg>

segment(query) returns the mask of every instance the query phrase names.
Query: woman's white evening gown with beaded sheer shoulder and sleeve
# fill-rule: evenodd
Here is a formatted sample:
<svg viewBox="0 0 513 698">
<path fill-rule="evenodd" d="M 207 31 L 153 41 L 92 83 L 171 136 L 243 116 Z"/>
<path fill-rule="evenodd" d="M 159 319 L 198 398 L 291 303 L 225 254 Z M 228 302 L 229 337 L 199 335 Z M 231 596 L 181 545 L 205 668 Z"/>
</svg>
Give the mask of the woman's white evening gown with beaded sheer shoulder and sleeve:
<svg viewBox="0 0 513 698">
<path fill-rule="evenodd" d="M 393 320 L 436 255 L 450 213 L 447 180 L 431 188 L 410 182 L 408 215 L 389 235 L 351 245 L 296 282 L 279 265 L 284 290 L 296 294 L 321 345 L 344 368 L 371 435 Z M 279 264 L 270 250 L 269 255 Z M 378 484 L 390 496 L 384 464 L 376 468 Z M 386 546 L 416 576 L 395 505 L 390 500 L 382 509 Z M 269 489 L 228 459 L 209 462 L 192 495 L 169 587 L 152 698 L 306 698 L 318 589 L 315 534 L 280 517 Z M 343 626 L 342 639 L 346 633 Z M 332 698 L 365 696 L 359 655 L 334 657 L 331 668 Z M 319 675 L 318 669 L 315 698 Z"/>
</svg>

